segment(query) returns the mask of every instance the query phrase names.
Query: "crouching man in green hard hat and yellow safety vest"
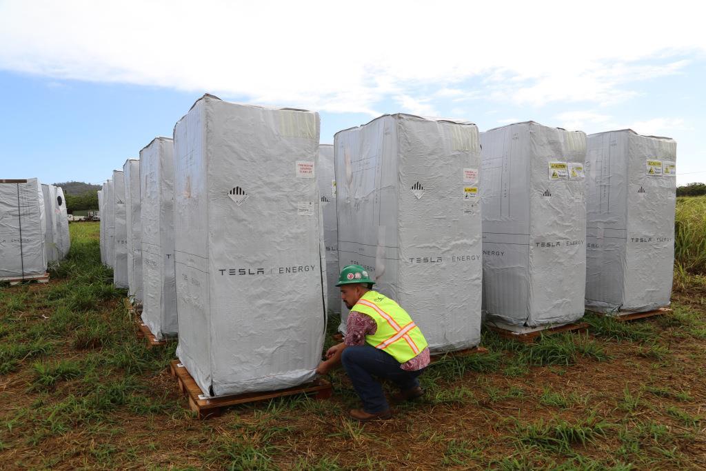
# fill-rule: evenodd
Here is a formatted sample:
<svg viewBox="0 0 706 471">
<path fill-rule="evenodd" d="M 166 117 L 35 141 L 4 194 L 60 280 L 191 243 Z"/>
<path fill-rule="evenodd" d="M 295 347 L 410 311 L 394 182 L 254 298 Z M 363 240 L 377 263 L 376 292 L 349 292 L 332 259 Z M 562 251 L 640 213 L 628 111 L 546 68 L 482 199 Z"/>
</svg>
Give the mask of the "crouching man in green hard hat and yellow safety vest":
<svg viewBox="0 0 706 471">
<path fill-rule="evenodd" d="M 350 411 L 361 422 L 392 417 L 381 383 L 391 381 L 400 388 L 395 400 L 412 400 L 424 392 L 417 376 L 429 365 L 429 348 L 424 335 L 407 311 L 392 299 L 373 291 L 374 282 L 359 265 L 345 267 L 336 286 L 350 309 L 346 336 L 330 347 L 326 360 L 316 369 L 326 374 L 342 363 L 363 403 Z"/>
</svg>

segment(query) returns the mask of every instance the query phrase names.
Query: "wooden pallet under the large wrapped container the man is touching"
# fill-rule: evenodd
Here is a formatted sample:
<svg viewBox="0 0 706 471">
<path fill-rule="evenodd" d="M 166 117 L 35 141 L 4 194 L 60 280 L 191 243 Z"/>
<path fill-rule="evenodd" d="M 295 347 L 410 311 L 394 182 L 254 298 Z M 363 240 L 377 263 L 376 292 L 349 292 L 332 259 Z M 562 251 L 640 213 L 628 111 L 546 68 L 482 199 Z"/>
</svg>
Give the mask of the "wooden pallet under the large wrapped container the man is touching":
<svg viewBox="0 0 706 471">
<path fill-rule="evenodd" d="M 294 388 L 280 389 L 275 391 L 265 391 L 260 393 L 244 393 L 222 395 L 215 398 L 208 398 L 203 394 L 203 390 L 198 387 L 196 381 L 191 377 L 186 366 L 179 360 L 172 360 L 169 364 L 169 371 L 173 378 L 177 379 L 179 390 L 189 398 L 189 408 L 196 412 L 199 419 L 208 419 L 220 415 L 226 407 L 232 405 L 254 403 L 259 400 L 282 398 L 287 395 L 313 393 L 317 400 L 331 397 L 331 383 L 323 378 L 317 378 L 311 383 L 295 386 Z"/>
</svg>

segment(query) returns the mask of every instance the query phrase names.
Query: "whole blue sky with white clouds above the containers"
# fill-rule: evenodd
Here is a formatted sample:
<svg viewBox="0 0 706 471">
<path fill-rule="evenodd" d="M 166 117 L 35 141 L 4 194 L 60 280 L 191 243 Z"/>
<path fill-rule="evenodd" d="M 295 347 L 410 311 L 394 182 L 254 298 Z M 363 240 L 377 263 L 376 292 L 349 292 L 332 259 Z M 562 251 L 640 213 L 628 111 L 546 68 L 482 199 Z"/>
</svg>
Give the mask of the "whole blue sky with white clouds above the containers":
<svg viewBox="0 0 706 471">
<path fill-rule="evenodd" d="M 706 181 L 698 2 L 0 0 L 0 178 L 100 183 L 204 93 L 677 141 Z"/>
</svg>

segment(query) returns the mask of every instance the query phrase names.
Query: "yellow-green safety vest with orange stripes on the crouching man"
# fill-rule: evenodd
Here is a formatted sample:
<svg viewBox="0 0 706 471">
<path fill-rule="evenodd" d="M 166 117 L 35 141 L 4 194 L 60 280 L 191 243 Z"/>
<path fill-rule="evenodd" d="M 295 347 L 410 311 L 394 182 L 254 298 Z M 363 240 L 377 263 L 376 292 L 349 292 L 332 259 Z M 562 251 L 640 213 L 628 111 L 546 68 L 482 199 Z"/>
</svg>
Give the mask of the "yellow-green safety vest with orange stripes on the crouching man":
<svg viewBox="0 0 706 471">
<path fill-rule="evenodd" d="M 375 320 L 378 330 L 373 335 L 365 336 L 366 343 L 385 350 L 397 362 L 405 363 L 426 348 L 424 335 L 407 311 L 383 294 L 366 292 L 351 311 L 367 314 Z"/>
</svg>

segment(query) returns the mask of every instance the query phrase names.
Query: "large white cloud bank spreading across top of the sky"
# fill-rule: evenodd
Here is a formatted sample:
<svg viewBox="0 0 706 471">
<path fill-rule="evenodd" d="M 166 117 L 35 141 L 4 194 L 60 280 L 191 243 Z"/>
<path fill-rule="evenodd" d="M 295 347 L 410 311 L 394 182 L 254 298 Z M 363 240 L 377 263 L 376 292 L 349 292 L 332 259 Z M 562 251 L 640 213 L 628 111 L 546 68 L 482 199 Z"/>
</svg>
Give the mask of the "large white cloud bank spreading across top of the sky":
<svg viewBox="0 0 706 471">
<path fill-rule="evenodd" d="M 0 68 L 54 79 L 208 90 L 332 112 L 378 114 L 393 99 L 429 114 L 430 97 L 626 100 L 630 83 L 686 65 L 670 58 L 706 52 L 706 35 L 700 16 L 678 1 L 665 9 L 650 1 L 586 8 L 8 0 L 0 4 L 0 44 Z M 465 90 L 469 80 L 483 90 Z"/>
</svg>

